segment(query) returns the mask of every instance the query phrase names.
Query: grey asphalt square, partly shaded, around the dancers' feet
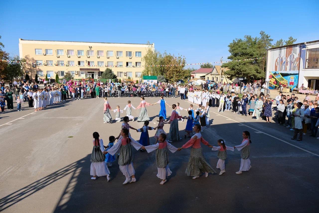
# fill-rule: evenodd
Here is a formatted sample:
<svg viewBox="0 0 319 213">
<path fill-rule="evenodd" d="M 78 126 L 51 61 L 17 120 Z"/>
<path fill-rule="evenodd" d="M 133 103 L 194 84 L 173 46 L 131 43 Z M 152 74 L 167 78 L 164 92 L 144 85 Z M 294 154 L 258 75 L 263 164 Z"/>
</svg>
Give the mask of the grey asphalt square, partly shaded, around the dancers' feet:
<svg viewBox="0 0 319 213">
<path fill-rule="evenodd" d="M 109 98 L 110 106 L 121 109 L 131 100 Z M 159 98 L 146 98 L 155 103 Z M 187 100 L 167 98 L 172 105 Z M 217 113 L 210 108 L 210 126 L 202 136 L 214 146 L 225 139 L 227 146 L 239 145 L 241 133 L 251 133 L 251 170 L 235 174 L 240 166 L 240 152 L 227 152 L 226 173 L 218 175 L 217 152 L 203 146 L 204 155 L 217 174 L 192 179 L 185 169 L 190 149 L 169 155 L 173 174 L 160 185 L 156 177 L 155 152 L 133 151 L 137 182 L 122 185 L 125 177 L 117 161 L 106 177 L 91 180 L 90 155 L 92 133 L 99 132 L 104 144 L 110 135 L 118 136 L 121 123 L 103 123 L 100 99 L 68 100 L 33 113 L 6 111 L 0 114 L 0 211 L 3 212 L 316 212 L 319 207 L 319 140 L 309 137 L 291 140 L 293 131 L 273 121 L 252 119 L 230 111 Z M 171 109 L 168 107 L 167 115 Z M 148 106 L 150 126 L 158 125 L 159 105 Z M 138 116 L 140 110 L 133 110 Z M 111 112 L 113 119 L 115 113 Z M 182 115 L 188 113 L 182 111 Z M 125 116 L 124 112 L 121 116 Z M 143 122 L 130 125 L 141 128 Z M 184 135 L 186 120 L 179 122 Z M 164 130 L 168 132 L 169 124 Z M 140 133 L 130 131 L 138 140 Z M 149 131 L 151 143 L 155 131 Z M 183 137 L 182 137 L 183 138 Z M 187 140 L 173 142 L 181 147 Z"/>
</svg>

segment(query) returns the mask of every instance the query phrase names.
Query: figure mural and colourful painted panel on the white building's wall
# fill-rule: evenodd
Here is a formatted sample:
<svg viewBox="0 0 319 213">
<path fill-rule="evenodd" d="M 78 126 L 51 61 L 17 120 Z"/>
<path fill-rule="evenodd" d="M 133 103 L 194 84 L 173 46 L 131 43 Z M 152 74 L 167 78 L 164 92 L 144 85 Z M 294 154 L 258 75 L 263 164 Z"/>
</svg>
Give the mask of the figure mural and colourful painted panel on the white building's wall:
<svg viewBox="0 0 319 213">
<path fill-rule="evenodd" d="M 267 59 L 269 89 L 278 89 L 280 85 L 289 86 L 291 89 L 297 87 L 299 69 L 305 66 L 305 54 L 305 49 L 299 44 L 269 51 Z"/>
</svg>

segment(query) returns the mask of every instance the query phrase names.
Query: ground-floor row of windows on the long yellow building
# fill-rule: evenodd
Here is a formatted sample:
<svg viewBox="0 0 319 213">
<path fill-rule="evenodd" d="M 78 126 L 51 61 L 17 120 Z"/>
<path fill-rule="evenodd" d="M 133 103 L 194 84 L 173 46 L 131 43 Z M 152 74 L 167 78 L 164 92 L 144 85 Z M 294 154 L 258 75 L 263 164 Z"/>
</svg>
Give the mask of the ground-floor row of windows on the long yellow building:
<svg viewBox="0 0 319 213">
<path fill-rule="evenodd" d="M 70 72 L 70 74 L 72 76 L 75 76 L 76 71 L 68 71 L 68 72 Z M 59 77 L 64 77 L 64 73 L 65 73 L 65 71 L 58 71 L 57 74 L 58 74 Z M 86 76 L 85 76 L 85 71 L 78 71 L 77 73 L 78 73 L 79 77 L 91 77 L 91 74 L 93 72 L 87 72 Z M 96 74 L 98 76 L 101 76 L 102 73 L 103 72 L 100 72 L 100 71 L 96 72 Z M 135 77 L 139 78 L 141 76 L 141 74 L 142 74 L 141 72 L 135 72 Z M 40 77 L 43 77 L 44 76 L 44 72 L 42 70 L 38 70 L 37 71 L 37 75 L 40 76 Z M 54 74 L 53 71 L 47 71 L 47 75 L 48 75 L 48 77 L 52 77 L 52 78 L 55 77 L 55 74 Z M 125 77 L 126 76 L 126 77 L 131 77 L 132 78 L 133 77 L 133 72 L 117 72 L 116 75 L 117 75 L 117 77 Z"/>
</svg>

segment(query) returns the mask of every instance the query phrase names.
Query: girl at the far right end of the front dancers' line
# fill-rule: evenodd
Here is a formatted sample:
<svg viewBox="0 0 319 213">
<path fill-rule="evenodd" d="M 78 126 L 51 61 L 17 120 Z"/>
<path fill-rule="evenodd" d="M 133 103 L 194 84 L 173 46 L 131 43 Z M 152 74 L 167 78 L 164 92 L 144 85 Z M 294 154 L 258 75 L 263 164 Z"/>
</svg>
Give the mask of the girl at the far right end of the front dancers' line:
<svg viewBox="0 0 319 213">
<path fill-rule="evenodd" d="M 250 170 L 250 160 L 249 160 L 249 155 L 250 155 L 250 133 L 249 131 L 243 131 L 242 133 L 242 142 L 241 145 L 234 146 L 234 148 L 237 148 L 238 151 L 241 151 L 241 162 L 240 162 L 240 168 L 239 171 L 236 172 L 236 174 L 241 174 L 242 171 L 248 171 Z"/>
</svg>

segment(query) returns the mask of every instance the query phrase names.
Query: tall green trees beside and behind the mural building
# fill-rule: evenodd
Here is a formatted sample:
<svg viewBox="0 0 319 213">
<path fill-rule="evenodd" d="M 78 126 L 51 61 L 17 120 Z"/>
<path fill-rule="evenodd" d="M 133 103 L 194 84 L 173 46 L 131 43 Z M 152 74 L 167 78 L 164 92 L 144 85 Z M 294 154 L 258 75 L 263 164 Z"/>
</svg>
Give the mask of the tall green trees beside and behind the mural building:
<svg viewBox="0 0 319 213">
<path fill-rule="evenodd" d="M 285 41 L 285 45 L 295 43 L 297 39 L 292 36 Z M 236 38 L 231 42 L 229 47 L 230 56 L 228 59 L 233 61 L 225 63 L 222 67 L 229 68 L 225 71 L 230 79 L 244 77 L 248 81 L 253 79 L 264 79 L 266 72 L 267 49 L 284 45 L 283 39 L 272 44 L 273 39 L 264 31 L 260 32 L 260 37 L 245 35 L 244 38 Z M 234 61 L 242 59 L 263 58 L 258 60 Z"/>
</svg>

